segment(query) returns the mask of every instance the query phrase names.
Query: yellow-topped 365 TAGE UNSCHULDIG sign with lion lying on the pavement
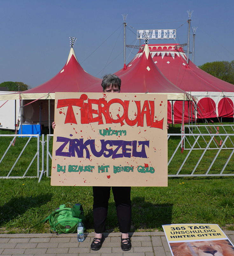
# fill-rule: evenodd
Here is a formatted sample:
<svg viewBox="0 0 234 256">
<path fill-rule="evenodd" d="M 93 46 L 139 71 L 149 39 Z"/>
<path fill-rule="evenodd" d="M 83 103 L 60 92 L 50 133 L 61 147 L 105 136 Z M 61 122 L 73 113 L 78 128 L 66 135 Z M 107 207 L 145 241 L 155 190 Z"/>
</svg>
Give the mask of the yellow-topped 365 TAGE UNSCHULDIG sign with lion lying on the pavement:
<svg viewBox="0 0 234 256">
<path fill-rule="evenodd" d="M 234 255 L 234 247 L 217 224 L 163 225 L 173 256 Z"/>
</svg>

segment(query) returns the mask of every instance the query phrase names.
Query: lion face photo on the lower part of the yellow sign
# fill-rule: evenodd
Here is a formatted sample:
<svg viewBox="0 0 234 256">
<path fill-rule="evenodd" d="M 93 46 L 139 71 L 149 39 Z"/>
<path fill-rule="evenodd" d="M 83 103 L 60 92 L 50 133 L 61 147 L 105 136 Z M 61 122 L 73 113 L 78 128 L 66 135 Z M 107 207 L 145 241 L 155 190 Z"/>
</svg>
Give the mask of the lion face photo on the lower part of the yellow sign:
<svg viewBox="0 0 234 256">
<path fill-rule="evenodd" d="M 228 240 L 170 243 L 174 256 L 234 256 Z"/>
</svg>

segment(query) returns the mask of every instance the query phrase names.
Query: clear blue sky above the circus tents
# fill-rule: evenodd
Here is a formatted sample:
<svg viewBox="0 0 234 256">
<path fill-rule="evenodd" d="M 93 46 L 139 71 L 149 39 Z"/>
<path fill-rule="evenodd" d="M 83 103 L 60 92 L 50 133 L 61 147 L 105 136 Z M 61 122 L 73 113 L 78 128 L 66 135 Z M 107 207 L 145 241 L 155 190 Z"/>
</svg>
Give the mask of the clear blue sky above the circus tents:
<svg viewBox="0 0 234 256">
<path fill-rule="evenodd" d="M 35 87 L 55 76 L 67 60 L 69 36 L 78 39 L 74 50 L 88 73 L 102 77 L 116 72 L 123 67 L 123 13 L 128 14 L 127 44 L 139 44 L 137 29 L 177 29 L 176 41 L 149 44 L 187 43 L 187 11 L 193 10 L 195 64 L 231 61 L 233 9 L 229 0 L 1 0 L 0 83 L 18 81 Z M 190 42 L 192 50 L 192 36 Z M 126 49 L 127 63 L 136 52 Z"/>
</svg>

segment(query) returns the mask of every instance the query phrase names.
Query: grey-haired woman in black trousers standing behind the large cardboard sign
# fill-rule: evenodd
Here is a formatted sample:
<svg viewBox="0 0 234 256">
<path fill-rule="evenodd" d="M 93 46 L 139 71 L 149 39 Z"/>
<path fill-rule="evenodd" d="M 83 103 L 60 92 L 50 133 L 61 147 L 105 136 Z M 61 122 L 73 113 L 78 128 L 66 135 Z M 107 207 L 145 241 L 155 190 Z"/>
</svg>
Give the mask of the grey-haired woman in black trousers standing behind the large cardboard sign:
<svg viewBox="0 0 234 256">
<path fill-rule="evenodd" d="M 102 80 L 103 92 L 119 93 L 121 80 L 116 75 L 106 75 Z M 52 123 L 55 128 L 55 122 Z M 104 241 L 103 232 L 106 230 L 108 201 L 110 198 L 111 187 L 93 187 L 93 221 L 95 237 L 91 244 L 91 249 L 97 251 L 101 248 Z M 131 187 L 112 187 L 114 201 L 117 211 L 117 218 L 121 234 L 121 249 L 129 251 L 132 247 L 128 236 L 131 226 Z"/>
</svg>

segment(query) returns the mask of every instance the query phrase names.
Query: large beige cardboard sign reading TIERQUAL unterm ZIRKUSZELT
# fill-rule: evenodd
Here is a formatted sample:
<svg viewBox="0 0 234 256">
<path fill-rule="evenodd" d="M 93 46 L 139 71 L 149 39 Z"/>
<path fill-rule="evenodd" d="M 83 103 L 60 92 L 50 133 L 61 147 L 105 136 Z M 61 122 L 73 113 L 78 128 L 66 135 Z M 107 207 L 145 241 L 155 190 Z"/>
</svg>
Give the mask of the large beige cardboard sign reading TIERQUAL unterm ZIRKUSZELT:
<svg viewBox="0 0 234 256">
<path fill-rule="evenodd" d="M 167 95 L 55 93 L 52 186 L 167 186 Z"/>
</svg>

